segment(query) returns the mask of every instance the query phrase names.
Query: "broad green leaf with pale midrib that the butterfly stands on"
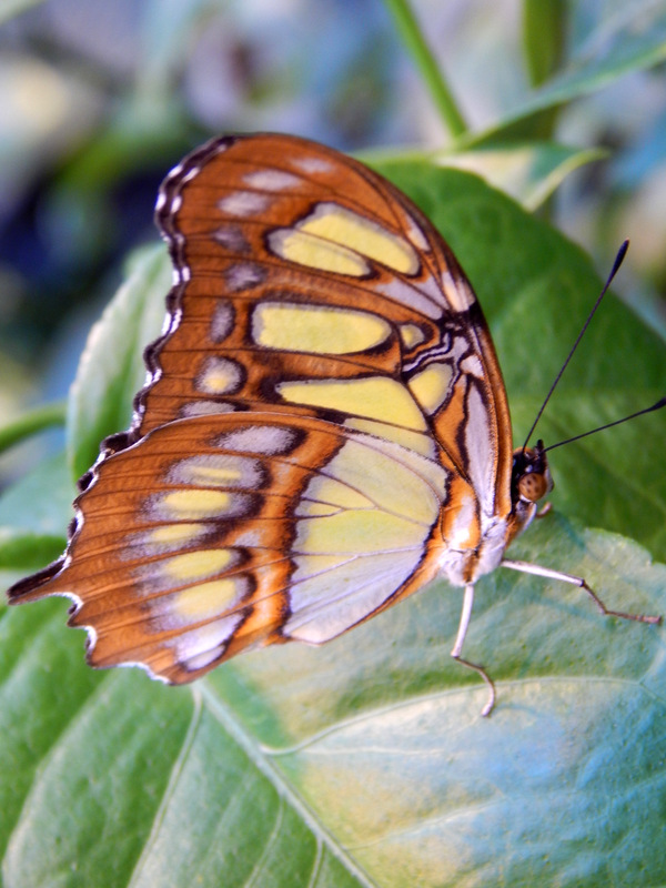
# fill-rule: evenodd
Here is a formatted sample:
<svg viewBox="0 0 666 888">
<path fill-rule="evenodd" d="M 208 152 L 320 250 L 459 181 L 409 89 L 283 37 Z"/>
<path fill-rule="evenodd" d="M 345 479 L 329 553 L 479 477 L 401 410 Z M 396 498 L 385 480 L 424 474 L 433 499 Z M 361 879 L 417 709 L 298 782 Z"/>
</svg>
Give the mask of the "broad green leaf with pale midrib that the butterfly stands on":
<svg viewBox="0 0 666 888">
<path fill-rule="evenodd" d="M 585 573 L 608 604 L 666 607 L 666 568 L 626 539 L 551 515 L 518 554 Z M 323 648 L 259 652 L 192 692 L 95 675 L 62 607 L 12 610 L 6 885 L 658 882 L 663 630 L 496 572 L 467 644 L 498 682 L 483 719 L 485 689 L 448 657 L 460 602 L 437 584 Z"/>
</svg>

